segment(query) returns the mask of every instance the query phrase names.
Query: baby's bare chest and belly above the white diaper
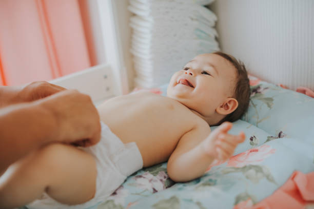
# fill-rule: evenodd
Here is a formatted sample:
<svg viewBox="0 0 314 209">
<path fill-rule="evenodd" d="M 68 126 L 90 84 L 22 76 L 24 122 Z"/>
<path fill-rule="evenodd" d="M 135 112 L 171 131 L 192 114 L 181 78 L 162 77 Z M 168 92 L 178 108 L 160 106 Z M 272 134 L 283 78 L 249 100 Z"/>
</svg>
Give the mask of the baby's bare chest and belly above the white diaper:
<svg viewBox="0 0 314 209">
<path fill-rule="evenodd" d="M 136 142 L 144 166 L 167 160 L 198 120 L 178 101 L 149 93 L 112 99 L 97 109 L 101 120 L 124 143 Z"/>
</svg>

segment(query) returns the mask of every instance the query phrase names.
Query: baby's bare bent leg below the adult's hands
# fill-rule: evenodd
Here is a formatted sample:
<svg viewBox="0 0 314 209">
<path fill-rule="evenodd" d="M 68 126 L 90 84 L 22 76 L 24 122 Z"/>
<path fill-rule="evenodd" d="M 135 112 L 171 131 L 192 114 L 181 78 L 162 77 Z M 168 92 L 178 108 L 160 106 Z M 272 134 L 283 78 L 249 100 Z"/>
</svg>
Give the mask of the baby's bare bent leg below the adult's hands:
<svg viewBox="0 0 314 209">
<path fill-rule="evenodd" d="M 0 208 L 22 206 L 46 192 L 64 204 L 93 198 L 96 162 L 77 148 L 50 144 L 17 161 L 0 178 Z"/>
</svg>

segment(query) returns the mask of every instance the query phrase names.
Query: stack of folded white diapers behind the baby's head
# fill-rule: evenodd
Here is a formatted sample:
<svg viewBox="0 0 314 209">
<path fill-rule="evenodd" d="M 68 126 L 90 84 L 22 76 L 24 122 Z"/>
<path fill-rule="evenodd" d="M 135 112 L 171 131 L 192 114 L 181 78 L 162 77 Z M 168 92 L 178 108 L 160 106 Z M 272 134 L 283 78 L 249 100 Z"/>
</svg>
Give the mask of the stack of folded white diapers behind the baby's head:
<svg viewBox="0 0 314 209">
<path fill-rule="evenodd" d="M 218 51 L 214 0 L 129 0 L 135 86 L 152 88 L 194 56 Z"/>
</svg>

